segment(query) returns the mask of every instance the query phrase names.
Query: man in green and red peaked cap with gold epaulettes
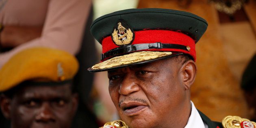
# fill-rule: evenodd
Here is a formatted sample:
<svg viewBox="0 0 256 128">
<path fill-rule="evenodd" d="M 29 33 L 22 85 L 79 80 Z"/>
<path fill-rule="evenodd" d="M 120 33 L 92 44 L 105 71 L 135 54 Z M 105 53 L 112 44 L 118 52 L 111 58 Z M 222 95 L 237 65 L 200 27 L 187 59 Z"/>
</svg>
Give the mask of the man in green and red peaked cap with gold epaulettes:
<svg viewBox="0 0 256 128">
<path fill-rule="evenodd" d="M 102 44 L 101 63 L 88 70 L 108 71 L 123 120 L 103 128 L 222 128 L 190 100 L 195 43 L 207 26 L 197 15 L 169 9 L 128 9 L 96 19 L 91 33 Z"/>
</svg>

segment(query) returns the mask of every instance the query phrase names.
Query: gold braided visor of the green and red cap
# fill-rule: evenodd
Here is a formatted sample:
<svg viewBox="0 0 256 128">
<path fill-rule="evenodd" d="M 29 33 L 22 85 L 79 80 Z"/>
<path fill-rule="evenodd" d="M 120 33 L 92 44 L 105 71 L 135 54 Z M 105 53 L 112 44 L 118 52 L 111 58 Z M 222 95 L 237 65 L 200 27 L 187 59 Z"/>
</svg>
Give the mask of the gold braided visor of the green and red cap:
<svg viewBox="0 0 256 128">
<path fill-rule="evenodd" d="M 93 72 L 93 70 L 102 70 L 109 69 L 114 67 L 121 67 L 124 65 L 132 65 L 135 63 L 140 63 L 144 61 L 150 61 L 154 59 L 163 58 L 166 56 L 170 56 L 172 52 L 155 52 L 155 51 L 141 51 L 134 52 L 130 54 L 126 54 L 123 56 L 116 56 L 101 63 L 98 63 L 88 70 Z"/>
</svg>

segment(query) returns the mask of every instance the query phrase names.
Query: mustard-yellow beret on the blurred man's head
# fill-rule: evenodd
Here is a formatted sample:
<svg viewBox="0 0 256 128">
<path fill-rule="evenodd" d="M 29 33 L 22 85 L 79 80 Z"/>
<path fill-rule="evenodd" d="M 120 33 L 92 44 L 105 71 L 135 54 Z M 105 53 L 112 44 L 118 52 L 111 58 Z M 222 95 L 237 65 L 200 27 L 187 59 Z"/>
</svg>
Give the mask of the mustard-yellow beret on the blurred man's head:
<svg viewBox="0 0 256 128">
<path fill-rule="evenodd" d="M 7 91 L 25 81 L 35 84 L 63 84 L 78 71 L 78 61 L 57 49 L 28 48 L 15 54 L 0 69 L 0 91 Z"/>
</svg>

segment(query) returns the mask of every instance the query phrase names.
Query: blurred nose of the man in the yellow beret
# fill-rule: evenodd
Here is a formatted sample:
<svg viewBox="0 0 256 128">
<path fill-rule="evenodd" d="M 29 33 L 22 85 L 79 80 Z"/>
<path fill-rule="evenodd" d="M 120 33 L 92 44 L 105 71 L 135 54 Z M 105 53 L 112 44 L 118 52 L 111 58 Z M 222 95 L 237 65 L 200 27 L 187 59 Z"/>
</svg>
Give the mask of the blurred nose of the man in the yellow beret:
<svg viewBox="0 0 256 128">
<path fill-rule="evenodd" d="M 50 103 L 43 102 L 41 105 L 41 108 L 39 109 L 39 112 L 37 113 L 35 117 L 36 121 L 38 122 L 49 122 L 55 121 L 55 116 L 52 110 L 52 107 L 50 106 Z"/>
</svg>

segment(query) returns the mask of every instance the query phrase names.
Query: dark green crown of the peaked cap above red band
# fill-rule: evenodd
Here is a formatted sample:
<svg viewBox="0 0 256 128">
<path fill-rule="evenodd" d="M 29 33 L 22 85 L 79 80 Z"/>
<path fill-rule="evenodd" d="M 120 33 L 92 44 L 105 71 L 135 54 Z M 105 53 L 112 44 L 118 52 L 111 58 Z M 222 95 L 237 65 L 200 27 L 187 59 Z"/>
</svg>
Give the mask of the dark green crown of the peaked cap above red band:
<svg viewBox="0 0 256 128">
<path fill-rule="evenodd" d="M 206 20 L 192 13 L 170 9 L 126 9 L 99 17 L 91 25 L 91 33 L 100 43 L 110 36 L 118 20 L 126 21 L 134 30 L 166 29 L 189 35 L 195 43 L 208 26 Z"/>
</svg>

